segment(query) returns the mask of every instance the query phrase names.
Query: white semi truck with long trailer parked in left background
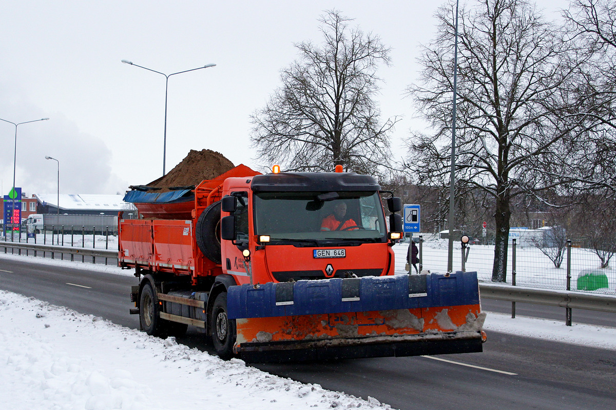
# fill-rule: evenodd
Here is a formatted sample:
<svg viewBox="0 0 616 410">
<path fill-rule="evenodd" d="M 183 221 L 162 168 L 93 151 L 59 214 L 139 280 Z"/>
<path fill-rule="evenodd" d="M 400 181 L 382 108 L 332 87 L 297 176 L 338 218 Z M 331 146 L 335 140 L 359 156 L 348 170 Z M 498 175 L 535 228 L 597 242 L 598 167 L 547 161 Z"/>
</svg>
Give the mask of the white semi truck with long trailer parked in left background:
<svg viewBox="0 0 616 410">
<path fill-rule="evenodd" d="M 73 230 L 75 233 L 85 232 L 86 234 L 92 234 L 93 232 L 101 232 L 104 234 L 108 230 L 110 234 L 117 234 L 118 216 L 35 213 L 26 219 L 26 229 L 28 234 L 40 234 L 43 231 L 59 231 L 62 229 L 66 233 L 70 233 Z"/>
</svg>

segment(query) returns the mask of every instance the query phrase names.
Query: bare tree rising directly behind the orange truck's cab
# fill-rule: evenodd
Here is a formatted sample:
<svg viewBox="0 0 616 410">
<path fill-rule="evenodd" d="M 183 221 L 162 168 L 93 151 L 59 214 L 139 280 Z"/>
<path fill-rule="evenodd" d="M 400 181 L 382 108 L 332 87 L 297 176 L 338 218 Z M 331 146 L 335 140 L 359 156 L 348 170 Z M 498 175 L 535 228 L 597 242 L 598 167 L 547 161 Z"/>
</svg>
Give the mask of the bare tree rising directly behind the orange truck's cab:
<svg viewBox="0 0 616 410">
<path fill-rule="evenodd" d="M 397 119 L 379 119 L 373 100 L 389 65 L 378 36 L 349 28 L 338 11 L 320 19 L 324 42 L 301 42 L 299 59 L 282 70 L 282 87 L 252 117 L 257 156 L 293 171 L 332 171 L 336 165 L 375 175 L 389 163 L 389 133 Z"/>
</svg>

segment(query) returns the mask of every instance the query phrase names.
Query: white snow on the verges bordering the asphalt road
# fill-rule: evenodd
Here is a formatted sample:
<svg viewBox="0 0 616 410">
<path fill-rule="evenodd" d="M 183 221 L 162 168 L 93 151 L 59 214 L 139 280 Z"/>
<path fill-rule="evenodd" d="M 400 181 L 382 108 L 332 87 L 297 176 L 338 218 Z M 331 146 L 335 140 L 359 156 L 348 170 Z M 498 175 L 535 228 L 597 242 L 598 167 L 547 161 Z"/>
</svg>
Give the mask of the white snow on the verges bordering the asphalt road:
<svg viewBox="0 0 616 410">
<path fill-rule="evenodd" d="M 23 256 L 0 254 L 0 265 L 3 258 Z M 39 262 L 132 275 L 111 266 Z M 616 328 L 488 313 L 484 329 L 616 350 Z M 0 346 L 7 409 L 390 408 L 6 291 L 0 291 Z"/>
</svg>

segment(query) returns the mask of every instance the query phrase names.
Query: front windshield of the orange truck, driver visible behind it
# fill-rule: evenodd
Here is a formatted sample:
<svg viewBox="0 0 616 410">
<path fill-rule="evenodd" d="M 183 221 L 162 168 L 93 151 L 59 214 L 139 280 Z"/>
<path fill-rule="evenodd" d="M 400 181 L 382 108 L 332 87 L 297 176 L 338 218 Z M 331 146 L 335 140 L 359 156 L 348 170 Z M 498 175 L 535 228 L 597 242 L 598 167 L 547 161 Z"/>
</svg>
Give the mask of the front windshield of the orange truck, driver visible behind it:
<svg viewBox="0 0 616 410">
<path fill-rule="evenodd" d="M 254 213 L 256 234 L 272 242 L 386 240 L 378 192 L 262 192 Z"/>
</svg>

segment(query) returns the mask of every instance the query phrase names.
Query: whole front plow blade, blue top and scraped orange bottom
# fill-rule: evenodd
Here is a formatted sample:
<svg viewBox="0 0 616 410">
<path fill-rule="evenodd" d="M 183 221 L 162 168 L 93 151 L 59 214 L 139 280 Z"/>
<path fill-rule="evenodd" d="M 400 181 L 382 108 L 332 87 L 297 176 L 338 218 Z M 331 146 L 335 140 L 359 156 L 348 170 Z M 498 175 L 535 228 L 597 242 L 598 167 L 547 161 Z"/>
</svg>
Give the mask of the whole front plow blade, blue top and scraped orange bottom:
<svg viewBox="0 0 616 410">
<path fill-rule="evenodd" d="M 250 362 L 482 351 L 477 272 L 231 286 Z"/>
</svg>

